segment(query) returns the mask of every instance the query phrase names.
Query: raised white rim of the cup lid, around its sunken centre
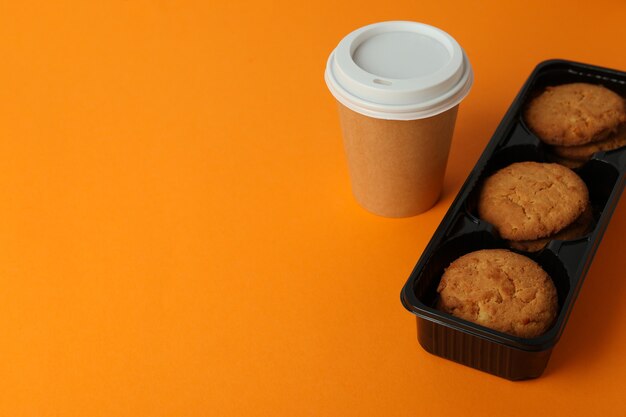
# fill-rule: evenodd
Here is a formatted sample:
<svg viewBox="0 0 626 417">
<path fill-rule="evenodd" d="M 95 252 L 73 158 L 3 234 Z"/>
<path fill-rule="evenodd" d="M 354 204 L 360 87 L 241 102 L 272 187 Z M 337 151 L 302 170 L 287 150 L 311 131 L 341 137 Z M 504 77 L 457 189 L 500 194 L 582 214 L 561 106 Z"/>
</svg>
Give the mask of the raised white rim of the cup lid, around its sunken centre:
<svg viewBox="0 0 626 417">
<path fill-rule="evenodd" d="M 371 36 L 399 31 L 449 43 L 449 61 L 431 73 L 396 79 L 364 70 L 350 54 Z M 360 43 L 354 45 L 358 39 Z M 407 21 L 374 23 L 348 34 L 331 52 L 324 78 L 341 104 L 357 113 L 389 120 L 414 120 L 443 113 L 467 96 L 474 79 L 467 55 L 454 38 L 436 27 Z M 390 84 L 385 84 L 386 80 Z"/>
</svg>

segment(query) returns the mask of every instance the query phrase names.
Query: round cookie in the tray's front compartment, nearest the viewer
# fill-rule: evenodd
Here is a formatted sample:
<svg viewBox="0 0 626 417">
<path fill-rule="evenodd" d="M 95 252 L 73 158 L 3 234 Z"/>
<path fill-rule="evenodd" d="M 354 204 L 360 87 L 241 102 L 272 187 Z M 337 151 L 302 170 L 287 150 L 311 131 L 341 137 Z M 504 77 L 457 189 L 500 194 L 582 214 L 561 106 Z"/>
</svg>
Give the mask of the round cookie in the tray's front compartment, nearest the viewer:
<svg viewBox="0 0 626 417">
<path fill-rule="evenodd" d="M 552 279 L 531 259 L 505 249 L 461 256 L 446 268 L 437 308 L 518 337 L 546 332 L 558 309 Z"/>
</svg>

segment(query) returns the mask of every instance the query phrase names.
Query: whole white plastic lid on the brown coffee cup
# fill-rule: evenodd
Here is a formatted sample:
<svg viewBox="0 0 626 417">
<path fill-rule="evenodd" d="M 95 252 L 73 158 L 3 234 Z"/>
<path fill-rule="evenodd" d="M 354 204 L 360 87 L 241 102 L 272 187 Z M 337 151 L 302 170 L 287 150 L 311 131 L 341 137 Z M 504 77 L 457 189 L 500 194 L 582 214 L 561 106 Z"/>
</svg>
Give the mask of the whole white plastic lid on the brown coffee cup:
<svg viewBox="0 0 626 417">
<path fill-rule="evenodd" d="M 469 92 L 472 67 L 441 29 L 416 22 L 381 22 L 343 38 L 324 74 L 344 106 L 377 119 L 414 120 L 456 106 Z"/>
</svg>

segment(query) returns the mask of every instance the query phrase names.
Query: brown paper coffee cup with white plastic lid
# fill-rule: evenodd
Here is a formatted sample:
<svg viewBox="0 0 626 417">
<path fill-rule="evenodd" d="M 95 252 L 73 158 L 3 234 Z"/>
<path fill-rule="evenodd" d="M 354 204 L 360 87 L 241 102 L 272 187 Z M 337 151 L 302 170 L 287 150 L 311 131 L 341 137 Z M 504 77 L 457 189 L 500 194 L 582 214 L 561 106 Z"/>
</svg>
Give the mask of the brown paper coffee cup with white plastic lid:
<svg viewBox="0 0 626 417">
<path fill-rule="evenodd" d="M 408 217 L 441 193 L 459 103 L 473 74 L 447 33 L 416 22 L 382 22 L 346 36 L 326 66 L 352 192 L 368 211 Z"/>
</svg>

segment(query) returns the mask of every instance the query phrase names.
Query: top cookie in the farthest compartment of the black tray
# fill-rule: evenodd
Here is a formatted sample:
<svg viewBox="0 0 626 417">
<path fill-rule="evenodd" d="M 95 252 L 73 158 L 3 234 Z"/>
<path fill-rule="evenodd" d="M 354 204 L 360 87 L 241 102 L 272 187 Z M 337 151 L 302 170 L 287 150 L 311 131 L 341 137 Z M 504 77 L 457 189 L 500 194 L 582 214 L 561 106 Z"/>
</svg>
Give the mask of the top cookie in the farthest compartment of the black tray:
<svg viewBox="0 0 626 417">
<path fill-rule="evenodd" d="M 614 133 L 626 121 L 626 104 L 600 85 L 563 84 L 547 87 L 531 100 L 524 119 L 547 144 L 582 145 Z"/>
</svg>

